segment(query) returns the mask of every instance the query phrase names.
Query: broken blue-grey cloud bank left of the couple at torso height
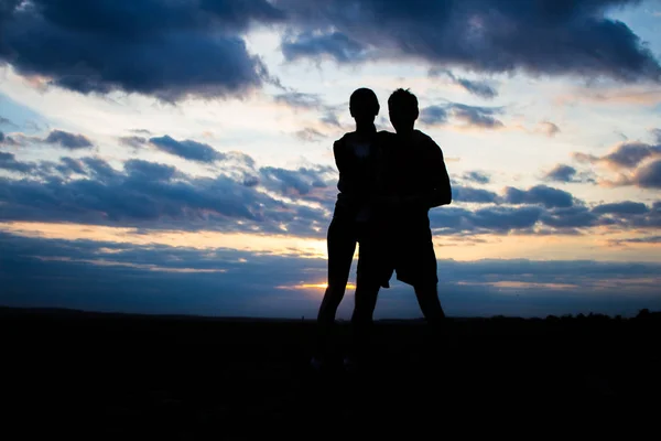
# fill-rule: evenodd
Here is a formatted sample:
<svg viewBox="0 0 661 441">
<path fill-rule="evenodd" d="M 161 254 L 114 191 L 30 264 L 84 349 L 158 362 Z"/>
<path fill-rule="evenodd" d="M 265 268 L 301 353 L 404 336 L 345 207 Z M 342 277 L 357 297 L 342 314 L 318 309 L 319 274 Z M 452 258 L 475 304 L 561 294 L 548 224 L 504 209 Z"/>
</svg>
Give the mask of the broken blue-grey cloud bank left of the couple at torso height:
<svg viewBox="0 0 661 441">
<path fill-rule="evenodd" d="M 299 237 L 325 234 L 321 226 L 328 222 L 336 196 L 330 168 L 237 172 L 238 162 L 248 168 L 252 159 L 230 153 L 214 179 L 142 160 L 129 160 L 118 170 L 94 157 L 34 164 L 3 153 L 3 169 L 30 174 L 21 180 L 0 176 L 0 220 L 252 234 L 289 230 Z M 284 197 L 291 201 L 283 202 Z"/>
</svg>

